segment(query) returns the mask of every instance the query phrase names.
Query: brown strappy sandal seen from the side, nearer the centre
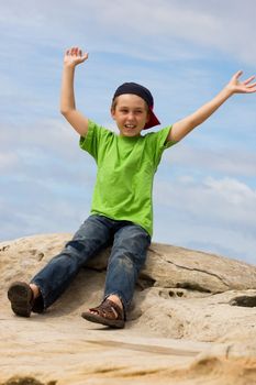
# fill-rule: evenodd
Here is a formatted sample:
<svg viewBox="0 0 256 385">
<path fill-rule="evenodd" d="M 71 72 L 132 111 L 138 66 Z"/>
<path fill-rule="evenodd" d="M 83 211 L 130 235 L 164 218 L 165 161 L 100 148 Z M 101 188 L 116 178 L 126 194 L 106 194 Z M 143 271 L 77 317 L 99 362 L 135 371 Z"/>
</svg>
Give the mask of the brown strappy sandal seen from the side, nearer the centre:
<svg viewBox="0 0 256 385">
<path fill-rule="evenodd" d="M 110 328 L 118 329 L 124 328 L 125 322 L 123 309 L 111 299 L 104 299 L 103 302 L 96 308 L 82 312 L 81 317 L 90 322 L 102 323 Z"/>
</svg>

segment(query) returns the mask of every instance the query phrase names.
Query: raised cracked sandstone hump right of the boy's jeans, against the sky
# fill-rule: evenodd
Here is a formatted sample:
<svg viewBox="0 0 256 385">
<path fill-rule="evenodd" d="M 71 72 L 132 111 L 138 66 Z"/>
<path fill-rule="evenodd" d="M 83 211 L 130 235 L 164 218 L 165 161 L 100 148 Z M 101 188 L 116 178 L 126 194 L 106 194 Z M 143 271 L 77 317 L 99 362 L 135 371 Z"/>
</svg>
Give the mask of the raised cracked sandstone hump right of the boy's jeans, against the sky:
<svg viewBox="0 0 256 385">
<path fill-rule="evenodd" d="M 202 293 L 256 289 L 256 266 L 171 245 L 153 243 L 143 273 L 162 287 Z"/>
</svg>

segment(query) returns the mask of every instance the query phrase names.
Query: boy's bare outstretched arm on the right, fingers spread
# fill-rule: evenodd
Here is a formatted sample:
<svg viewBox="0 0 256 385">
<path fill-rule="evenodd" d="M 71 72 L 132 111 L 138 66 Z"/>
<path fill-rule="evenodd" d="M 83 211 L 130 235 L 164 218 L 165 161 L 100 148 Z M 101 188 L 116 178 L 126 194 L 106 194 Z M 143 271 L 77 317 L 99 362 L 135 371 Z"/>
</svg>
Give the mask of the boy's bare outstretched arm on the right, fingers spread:
<svg viewBox="0 0 256 385">
<path fill-rule="evenodd" d="M 243 72 L 238 70 L 211 101 L 203 105 L 187 118 L 176 122 L 172 125 L 167 140 L 178 142 L 183 139 L 190 131 L 204 122 L 213 112 L 215 112 L 232 95 L 256 92 L 256 82 L 252 82 L 255 79 L 255 76 L 251 76 L 248 79 L 240 81 L 238 78 L 242 74 Z"/>
</svg>

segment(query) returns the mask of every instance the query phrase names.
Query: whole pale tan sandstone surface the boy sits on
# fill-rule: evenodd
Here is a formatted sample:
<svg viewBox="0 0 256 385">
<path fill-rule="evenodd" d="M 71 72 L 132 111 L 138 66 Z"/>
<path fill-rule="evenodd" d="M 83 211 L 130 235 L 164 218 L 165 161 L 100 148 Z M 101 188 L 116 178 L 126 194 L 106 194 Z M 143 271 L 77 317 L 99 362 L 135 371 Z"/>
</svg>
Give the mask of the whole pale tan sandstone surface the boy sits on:
<svg viewBox="0 0 256 385">
<path fill-rule="evenodd" d="M 0 243 L 0 384 L 256 384 L 256 266 L 153 243 L 124 330 L 80 314 L 102 297 L 109 249 L 44 315 L 19 318 L 7 289 L 69 240 Z"/>
</svg>

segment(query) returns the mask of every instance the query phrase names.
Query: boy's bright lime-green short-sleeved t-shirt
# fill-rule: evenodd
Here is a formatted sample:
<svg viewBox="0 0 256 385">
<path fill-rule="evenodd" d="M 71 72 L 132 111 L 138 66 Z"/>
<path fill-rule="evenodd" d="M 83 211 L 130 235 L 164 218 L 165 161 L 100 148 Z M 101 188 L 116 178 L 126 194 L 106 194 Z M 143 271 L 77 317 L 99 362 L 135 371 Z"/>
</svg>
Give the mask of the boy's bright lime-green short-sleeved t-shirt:
<svg viewBox="0 0 256 385">
<path fill-rule="evenodd" d="M 127 220 L 153 233 L 153 179 L 162 154 L 174 142 L 166 142 L 167 127 L 144 136 L 115 134 L 89 121 L 80 147 L 98 165 L 91 213 L 115 220 Z"/>
</svg>

